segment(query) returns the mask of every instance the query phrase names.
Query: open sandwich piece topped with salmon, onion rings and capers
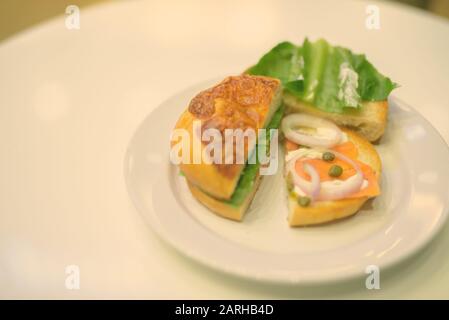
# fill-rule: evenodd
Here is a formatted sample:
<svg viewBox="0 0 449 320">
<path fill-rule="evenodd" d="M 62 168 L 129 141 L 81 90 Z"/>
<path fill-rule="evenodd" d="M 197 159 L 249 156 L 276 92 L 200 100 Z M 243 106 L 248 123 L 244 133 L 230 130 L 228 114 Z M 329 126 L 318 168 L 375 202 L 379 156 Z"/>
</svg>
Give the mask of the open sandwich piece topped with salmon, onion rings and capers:
<svg viewBox="0 0 449 320">
<path fill-rule="evenodd" d="M 350 216 L 380 194 L 379 155 L 359 134 L 308 114 L 286 116 L 282 131 L 290 226 Z"/>
</svg>

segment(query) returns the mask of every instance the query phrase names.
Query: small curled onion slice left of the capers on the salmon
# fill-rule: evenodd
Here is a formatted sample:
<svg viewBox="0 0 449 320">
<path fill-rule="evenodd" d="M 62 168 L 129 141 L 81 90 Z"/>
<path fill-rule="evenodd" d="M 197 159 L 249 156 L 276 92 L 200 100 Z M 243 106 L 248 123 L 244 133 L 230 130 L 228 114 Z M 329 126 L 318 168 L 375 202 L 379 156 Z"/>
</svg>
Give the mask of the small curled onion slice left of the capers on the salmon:
<svg viewBox="0 0 449 320">
<path fill-rule="evenodd" d="M 297 185 L 301 191 L 308 195 L 312 200 L 316 199 L 320 193 L 320 175 L 316 169 L 308 164 L 303 163 L 304 171 L 310 175 L 310 181 L 302 178 L 295 169 L 296 161 L 302 158 L 303 154 L 298 154 L 287 163 L 287 172 L 291 172 L 293 183 Z"/>
</svg>

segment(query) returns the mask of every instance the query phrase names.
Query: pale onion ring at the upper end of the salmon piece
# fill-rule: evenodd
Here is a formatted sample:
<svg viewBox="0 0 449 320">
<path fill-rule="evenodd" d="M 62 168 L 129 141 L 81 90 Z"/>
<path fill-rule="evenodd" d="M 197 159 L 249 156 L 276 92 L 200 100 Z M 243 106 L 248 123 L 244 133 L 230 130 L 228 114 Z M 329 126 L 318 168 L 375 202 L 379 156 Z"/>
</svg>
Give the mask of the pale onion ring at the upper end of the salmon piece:
<svg viewBox="0 0 449 320">
<path fill-rule="evenodd" d="M 308 135 L 301 133 L 298 127 L 323 128 L 329 130 L 331 135 L 329 137 Z M 308 114 L 288 115 L 282 120 L 281 128 L 289 140 L 308 147 L 332 148 L 342 139 L 341 130 L 335 124 Z"/>
</svg>

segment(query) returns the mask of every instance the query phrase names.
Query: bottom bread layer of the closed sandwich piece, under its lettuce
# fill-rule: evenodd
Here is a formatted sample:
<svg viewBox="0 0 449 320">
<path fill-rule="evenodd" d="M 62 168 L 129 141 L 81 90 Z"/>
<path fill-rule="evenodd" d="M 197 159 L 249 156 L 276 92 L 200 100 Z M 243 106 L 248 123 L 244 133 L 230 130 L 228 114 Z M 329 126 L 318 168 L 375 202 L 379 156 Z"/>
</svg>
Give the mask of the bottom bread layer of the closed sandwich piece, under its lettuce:
<svg viewBox="0 0 449 320">
<path fill-rule="evenodd" d="M 208 195 L 207 193 L 203 192 L 201 189 L 199 189 L 198 187 L 196 187 L 195 185 L 193 185 L 188 181 L 187 185 L 189 186 L 192 195 L 206 208 L 224 218 L 241 221 L 256 194 L 257 188 L 259 187 L 261 180 L 262 180 L 261 176 L 258 175 L 256 180 L 254 181 L 252 191 L 248 193 L 245 200 L 239 206 L 235 206 L 226 201 L 216 199 Z"/>
</svg>

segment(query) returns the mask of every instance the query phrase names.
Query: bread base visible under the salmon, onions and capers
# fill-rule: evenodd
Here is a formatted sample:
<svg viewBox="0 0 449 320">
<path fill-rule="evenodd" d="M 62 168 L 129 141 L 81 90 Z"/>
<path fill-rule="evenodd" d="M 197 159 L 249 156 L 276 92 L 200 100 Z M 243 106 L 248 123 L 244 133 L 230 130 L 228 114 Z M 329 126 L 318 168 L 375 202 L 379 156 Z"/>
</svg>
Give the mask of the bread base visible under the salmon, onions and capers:
<svg viewBox="0 0 449 320">
<path fill-rule="evenodd" d="M 353 142 L 358 150 L 358 160 L 369 165 L 380 179 L 382 164 L 374 147 L 359 134 L 343 129 L 348 140 Z M 297 197 L 291 193 L 288 195 L 288 223 L 292 227 L 322 224 L 355 214 L 369 197 L 342 199 L 335 201 L 316 201 L 308 207 L 301 207 Z"/>
</svg>

